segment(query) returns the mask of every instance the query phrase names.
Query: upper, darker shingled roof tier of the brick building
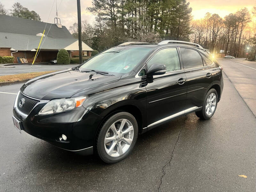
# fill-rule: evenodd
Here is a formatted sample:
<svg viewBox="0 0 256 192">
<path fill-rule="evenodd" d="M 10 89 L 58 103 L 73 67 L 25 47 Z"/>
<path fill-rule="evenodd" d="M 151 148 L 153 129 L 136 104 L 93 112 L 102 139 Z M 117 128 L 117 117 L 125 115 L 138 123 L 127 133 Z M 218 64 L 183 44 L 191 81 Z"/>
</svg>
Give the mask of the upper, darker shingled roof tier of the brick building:
<svg viewBox="0 0 256 192">
<path fill-rule="evenodd" d="M 43 33 L 44 28 L 45 31 L 48 32 L 51 23 L 12 17 L 8 15 L 0 15 L 0 26 L 0 32 L 36 36 L 38 33 Z M 54 24 L 52 24 L 47 36 L 56 39 L 74 39 L 65 26 L 58 28 Z"/>
</svg>

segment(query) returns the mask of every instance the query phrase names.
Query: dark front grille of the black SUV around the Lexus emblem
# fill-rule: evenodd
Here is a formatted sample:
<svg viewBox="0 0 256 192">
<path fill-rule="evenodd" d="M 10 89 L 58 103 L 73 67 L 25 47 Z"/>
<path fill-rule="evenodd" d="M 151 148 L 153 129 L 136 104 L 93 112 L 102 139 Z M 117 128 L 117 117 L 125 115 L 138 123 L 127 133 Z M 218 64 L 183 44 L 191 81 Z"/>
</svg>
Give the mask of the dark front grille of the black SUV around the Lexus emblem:
<svg viewBox="0 0 256 192">
<path fill-rule="evenodd" d="M 22 107 L 20 107 L 20 100 L 23 99 L 23 105 Z M 36 104 L 38 103 L 38 100 L 34 100 L 34 99 L 30 99 L 28 97 L 26 97 L 25 95 L 23 95 L 21 92 L 18 96 L 18 100 L 17 100 L 17 108 L 25 114 L 29 114 L 30 111 L 36 106 Z"/>
</svg>

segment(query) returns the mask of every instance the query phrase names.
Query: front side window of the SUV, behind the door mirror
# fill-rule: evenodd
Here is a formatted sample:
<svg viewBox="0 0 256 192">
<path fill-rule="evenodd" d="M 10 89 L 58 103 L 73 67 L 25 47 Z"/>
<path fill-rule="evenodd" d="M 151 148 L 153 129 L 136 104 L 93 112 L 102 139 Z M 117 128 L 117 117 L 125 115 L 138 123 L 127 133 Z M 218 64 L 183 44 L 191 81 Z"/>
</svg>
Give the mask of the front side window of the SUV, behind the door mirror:
<svg viewBox="0 0 256 192">
<path fill-rule="evenodd" d="M 175 47 L 162 49 L 148 61 L 147 67 L 153 64 L 165 64 L 166 72 L 180 70 L 180 59 Z"/>
</svg>

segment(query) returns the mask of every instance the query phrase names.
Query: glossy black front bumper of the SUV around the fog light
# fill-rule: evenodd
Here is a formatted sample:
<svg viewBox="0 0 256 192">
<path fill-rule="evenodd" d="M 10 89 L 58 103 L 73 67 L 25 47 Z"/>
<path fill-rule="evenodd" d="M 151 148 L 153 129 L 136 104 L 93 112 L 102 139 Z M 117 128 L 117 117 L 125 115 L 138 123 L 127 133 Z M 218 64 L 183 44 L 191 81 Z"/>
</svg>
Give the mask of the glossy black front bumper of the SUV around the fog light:
<svg viewBox="0 0 256 192">
<path fill-rule="evenodd" d="M 39 103 L 28 115 L 14 105 L 13 115 L 21 122 L 21 130 L 56 147 L 84 155 L 92 154 L 102 117 L 83 106 L 56 114 L 37 115 L 45 104 Z M 60 140 L 62 134 L 67 136 L 66 141 Z"/>
</svg>

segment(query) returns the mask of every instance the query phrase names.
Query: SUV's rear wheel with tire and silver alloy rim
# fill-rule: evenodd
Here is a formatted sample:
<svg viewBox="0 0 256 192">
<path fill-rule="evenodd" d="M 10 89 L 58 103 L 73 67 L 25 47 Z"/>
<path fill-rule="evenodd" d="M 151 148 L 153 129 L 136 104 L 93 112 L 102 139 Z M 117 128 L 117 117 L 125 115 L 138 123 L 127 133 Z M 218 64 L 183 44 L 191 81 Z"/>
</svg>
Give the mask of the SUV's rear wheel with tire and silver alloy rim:
<svg viewBox="0 0 256 192">
<path fill-rule="evenodd" d="M 204 98 L 203 108 L 196 111 L 196 116 L 201 119 L 210 119 L 216 111 L 218 104 L 218 94 L 215 89 L 210 89 Z"/>
</svg>

